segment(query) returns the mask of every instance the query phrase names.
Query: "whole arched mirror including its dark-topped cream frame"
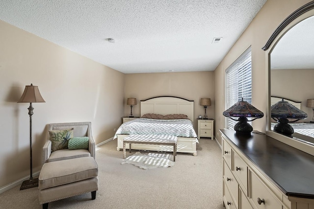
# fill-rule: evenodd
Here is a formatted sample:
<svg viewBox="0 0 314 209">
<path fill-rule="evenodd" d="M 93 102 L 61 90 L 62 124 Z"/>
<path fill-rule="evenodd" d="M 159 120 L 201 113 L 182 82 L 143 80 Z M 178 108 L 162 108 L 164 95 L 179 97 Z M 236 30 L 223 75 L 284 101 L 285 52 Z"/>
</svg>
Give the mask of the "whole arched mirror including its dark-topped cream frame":
<svg viewBox="0 0 314 209">
<path fill-rule="evenodd" d="M 268 109 L 266 133 L 307 153 L 314 154 L 314 1 L 302 6 L 281 23 L 262 48 L 266 53 Z M 270 106 L 284 98 L 308 117 L 289 123 L 290 136 L 274 131 Z M 311 104 L 313 99 L 313 104 Z M 313 121 L 313 122 L 312 122 Z"/>
</svg>

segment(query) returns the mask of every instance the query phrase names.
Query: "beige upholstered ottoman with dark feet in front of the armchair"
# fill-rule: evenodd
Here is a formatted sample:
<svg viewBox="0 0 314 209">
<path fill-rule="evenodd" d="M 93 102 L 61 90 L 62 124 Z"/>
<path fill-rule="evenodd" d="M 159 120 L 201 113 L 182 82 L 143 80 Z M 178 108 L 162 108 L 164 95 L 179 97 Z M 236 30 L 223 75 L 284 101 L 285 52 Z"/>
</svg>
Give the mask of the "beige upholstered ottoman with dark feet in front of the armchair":
<svg viewBox="0 0 314 209">
<path fill-rule="evenodd" d="M 75 158 L 45 163 L 39 174 L 39 203 L 48 203 L 98 190 L 98 164 L 93 157 Z"/>
</svg>

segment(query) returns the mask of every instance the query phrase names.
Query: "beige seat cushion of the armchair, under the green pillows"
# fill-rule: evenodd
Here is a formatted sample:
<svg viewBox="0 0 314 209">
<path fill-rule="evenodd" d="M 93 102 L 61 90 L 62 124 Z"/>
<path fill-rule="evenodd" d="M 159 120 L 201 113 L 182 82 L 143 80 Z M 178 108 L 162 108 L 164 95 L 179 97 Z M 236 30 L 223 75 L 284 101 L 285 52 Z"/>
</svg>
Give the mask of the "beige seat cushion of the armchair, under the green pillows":
<svg viewBox="0 0 314 209">
<path fill-rule="evenodd" d="M 90 156 L 90 152 L 87 149 L 59 149 L 51 153 L 47 163 Z"/>
</svg>

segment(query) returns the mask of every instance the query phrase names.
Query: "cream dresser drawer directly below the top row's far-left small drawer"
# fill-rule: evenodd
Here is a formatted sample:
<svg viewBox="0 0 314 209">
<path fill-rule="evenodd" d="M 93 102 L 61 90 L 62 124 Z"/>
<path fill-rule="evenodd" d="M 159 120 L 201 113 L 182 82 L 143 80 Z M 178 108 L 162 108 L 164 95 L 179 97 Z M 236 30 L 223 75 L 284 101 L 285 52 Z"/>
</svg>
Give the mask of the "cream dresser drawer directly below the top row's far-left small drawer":
<svg viewBox="0 0 314 209">
<path fill-rule="evenodd" d="M 222 166 L 223 166 L 223 179 L 225 181 L 225 185 L 230 189 L 230 195 L 233 198 L 233 201 L 237 208 L 239 186 L 235 180 L 234 175 L 232 174 L 230 168 L 228 167 L 225 161 L 223 161 Z"/>
</svg>

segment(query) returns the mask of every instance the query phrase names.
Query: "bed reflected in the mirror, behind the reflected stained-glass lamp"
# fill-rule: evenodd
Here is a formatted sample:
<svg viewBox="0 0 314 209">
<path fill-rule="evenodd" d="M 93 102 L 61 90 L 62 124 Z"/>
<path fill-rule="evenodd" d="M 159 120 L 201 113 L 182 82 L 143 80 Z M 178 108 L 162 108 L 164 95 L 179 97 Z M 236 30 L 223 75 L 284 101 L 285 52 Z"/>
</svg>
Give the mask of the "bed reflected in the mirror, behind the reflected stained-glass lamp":
<svg viewBox="0 0 314 209">
<path fill-rule="evenodd" d="M 301 110 L 301 102 L 299 101 L 294 101 L 288 98 L 283 98 L 285 101 L 288 101 L 290 104 L 292 104 L 293 106 L 297 107 L 298 109 Z M 282 97 L 280 96 L 271 96 L 271 105 L 279 102 L 282 100 Z M 300 135 L 304 135 L 307 137 L 311 137 L 314 138 L 314 123 L 309 123 L 309 122 L 302 122 L 303 120 L 297 121 L 297 122 L 291 122 L 289 123 L 289 125 L 291 125 L 291 127 L 294 130 L 294 134 L 292 134 L 293 137 L 297 137 L 297 138 L 302 138 L 300 137 Z M 277 123 L 272 120 L 271 121 L 271 130 L 274 129 L 274 126 Z M 311 139 L 313 140 L 313 139 Z M 314 140 L 313 140 L 314 141 Z"/>
</svg>

